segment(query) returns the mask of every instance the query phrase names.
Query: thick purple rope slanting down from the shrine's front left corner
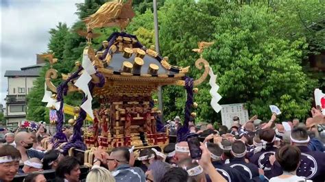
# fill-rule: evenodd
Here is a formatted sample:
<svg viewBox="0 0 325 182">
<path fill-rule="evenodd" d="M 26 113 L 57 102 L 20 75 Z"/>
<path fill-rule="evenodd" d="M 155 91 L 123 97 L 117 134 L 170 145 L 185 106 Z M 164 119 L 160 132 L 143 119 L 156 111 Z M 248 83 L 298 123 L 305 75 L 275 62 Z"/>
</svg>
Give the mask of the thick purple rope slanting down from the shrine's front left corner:
<svg viewBox="0 0 325 182">
<path fill-rule="evenodd" d="M 88 88 L 92 92 L 93 88 L 95 86 L 101 88 L 105 84 L 105 77 L 101 75 L 100 73 L 95 73 L 97 77 L 99 77 L 99 83 L 94 84 L 93 82 L 88 83 Z M 84 94 L 84 98 L 82 99 L 82 103 L 84 103 L 87 100 L 87 97 Z M 73 136 L 72 140 L 68 142 L 64 147 L 62 148 L 63 154 L 67 155 L 69 152 L 69 149 L 72 147 L 78 148 L 80 150 L 86 151 L 86 144 L 84 144 L 84 141 L 82 139 L 82 133 L 81 133 L 81 128 L 84 120 L 86 119 L 87 114 L 84 111 L 84 109 L 80 109 L 79 116 L 75 122 L 75 125 L 73 126 Z"/>
</svg>

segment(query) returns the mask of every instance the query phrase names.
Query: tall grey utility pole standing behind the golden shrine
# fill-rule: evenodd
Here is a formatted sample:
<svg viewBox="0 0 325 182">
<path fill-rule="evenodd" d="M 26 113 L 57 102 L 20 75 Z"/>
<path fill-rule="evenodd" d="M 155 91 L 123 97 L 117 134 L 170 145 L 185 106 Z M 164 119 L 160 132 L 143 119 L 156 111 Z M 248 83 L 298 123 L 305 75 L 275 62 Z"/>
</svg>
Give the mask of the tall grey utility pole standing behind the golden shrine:
<svg viewBox="0 0 325 182">
<path fill-rule="evenodd" d="M 157 13 L 157 0 L 154 0 L 154 37 L 156 42 L 156 52 L 159 53 L 159 32 L 158 32 L 158 13 Z M 163 92 L 161 86 L 158 87 L 158 108 L 161 111 L 160 120 L 164 122 L 163 117 Z"/>
</svg>

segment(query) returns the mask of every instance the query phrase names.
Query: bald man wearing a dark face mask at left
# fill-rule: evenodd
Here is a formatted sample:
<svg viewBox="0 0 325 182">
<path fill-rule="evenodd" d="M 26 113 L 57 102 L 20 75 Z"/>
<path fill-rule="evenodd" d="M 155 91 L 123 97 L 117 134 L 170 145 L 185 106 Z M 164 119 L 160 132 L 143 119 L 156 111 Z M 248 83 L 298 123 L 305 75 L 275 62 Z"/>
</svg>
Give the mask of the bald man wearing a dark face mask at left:
<svg viewBox="0 0 325 182">
<path fill-rule="evenodd" d="M 35 151 L 35 150 L 29 150 L 32 148 L 34 144 L 34 140 L 32 138 L 32 133 L 27 133 L 26 131 L 21 131 L 16 134 L 16 137 L 14 138 L 14 142 L 16 143 L 16 148 L 21 153 L 21 160 L 27 161 L 28 159 L 32 157 L 37 157 L 38 159 L 43 159 L 44 153 Z"/>
</svg>

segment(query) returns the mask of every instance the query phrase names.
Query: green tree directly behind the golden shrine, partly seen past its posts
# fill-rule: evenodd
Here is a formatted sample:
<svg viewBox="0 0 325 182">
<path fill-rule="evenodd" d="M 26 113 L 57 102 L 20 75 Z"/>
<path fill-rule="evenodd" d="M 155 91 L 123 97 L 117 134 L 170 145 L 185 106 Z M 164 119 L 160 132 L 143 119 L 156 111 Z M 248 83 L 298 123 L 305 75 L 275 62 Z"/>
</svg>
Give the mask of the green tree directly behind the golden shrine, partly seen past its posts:
<svg viewBox="0 0 325 182">
<path fill-rule="evenodd" d="M 191 50 L 197 48 L 197 42 L 213 40 L 213 21 L 227 6 L 225 1 L 167 1 L 158 12 L 161 55 L 168 56 L 173 65 L 191 66 L 189 76 L 194 79 L 200 77 L 202 71 L 193 66 L 200 56 Z M 196 120 L 216 120 L 218 115 L 211 111 L 210 105 L 206 105 L 210 99 L 207 81 L 199 88 L 194 97 L 199 105 L 195 111 Z M 182 116 L 185 97 L 185 90 L 180 86 L 163 87 L 164 117 Z"/>
</svg>

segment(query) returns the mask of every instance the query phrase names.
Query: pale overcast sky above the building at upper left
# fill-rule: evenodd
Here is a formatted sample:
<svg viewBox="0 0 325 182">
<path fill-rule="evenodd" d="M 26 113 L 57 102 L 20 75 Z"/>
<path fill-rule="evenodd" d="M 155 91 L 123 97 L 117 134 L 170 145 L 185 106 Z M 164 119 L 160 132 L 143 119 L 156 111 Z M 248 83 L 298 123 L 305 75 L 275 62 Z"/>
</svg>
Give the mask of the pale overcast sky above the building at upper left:
<svg viewBox="0 0 325 182">
<path fill-rule="evenodd" d="M 36 64 L 36 53 L 47 51 L 49 29 L 58 22 L 69 27 L 77 21 L 75 3 L 84 0 L 0 0 L 0 103 L 5 104 L 8 79 L 5 70 Z"/>
</svg>

